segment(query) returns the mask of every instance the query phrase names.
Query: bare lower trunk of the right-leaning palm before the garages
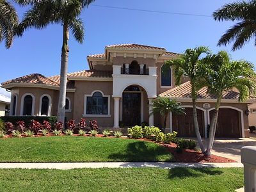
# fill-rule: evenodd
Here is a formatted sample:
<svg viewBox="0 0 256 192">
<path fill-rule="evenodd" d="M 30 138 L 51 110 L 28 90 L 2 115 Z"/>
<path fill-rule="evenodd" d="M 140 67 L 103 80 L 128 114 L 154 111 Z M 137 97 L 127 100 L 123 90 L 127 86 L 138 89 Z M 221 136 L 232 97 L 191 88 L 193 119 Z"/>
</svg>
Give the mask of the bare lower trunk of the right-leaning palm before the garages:
<svg viewBox="0 0 256 192">
<path fill-rule="evenodd" d="M 214 143 L 214 137 L 215 137 L 216 127 L 217 127 L 217 122 L 218 122 L 220 102 L 221 102 L 221 96 L 219 96 L 217 99 L 214 113 L 213 113 L 213 116 L 211 119 L 211 125 L 210 125 L 210 131 L 209 131 L 209 141 L 208 141 L 207 150 L 206 150 L 207 156 L 211 156 L 211 150 L 212 150 L 212 146 Z"/>
</svg>

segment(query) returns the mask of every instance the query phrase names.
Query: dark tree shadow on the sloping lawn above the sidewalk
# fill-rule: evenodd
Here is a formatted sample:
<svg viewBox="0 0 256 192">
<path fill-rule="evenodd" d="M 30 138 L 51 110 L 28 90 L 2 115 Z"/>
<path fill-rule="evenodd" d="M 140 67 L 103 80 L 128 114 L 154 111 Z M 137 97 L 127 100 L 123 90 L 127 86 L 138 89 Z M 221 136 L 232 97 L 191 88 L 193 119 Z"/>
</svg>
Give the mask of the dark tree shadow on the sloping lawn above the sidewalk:
<svg viewBox="0 0 256 192">
<path fill-rule="evenodd" d="M 125 152 L 110 154 L 109 159 L 130 161 L 130 162 L 154 162 L 164 161 L 173 162 L 173 156 L 167 148 L 160 145 L 150 145 L 152 143 L 145 141 L 136 141 L 129 143 Z"/>
</svg>

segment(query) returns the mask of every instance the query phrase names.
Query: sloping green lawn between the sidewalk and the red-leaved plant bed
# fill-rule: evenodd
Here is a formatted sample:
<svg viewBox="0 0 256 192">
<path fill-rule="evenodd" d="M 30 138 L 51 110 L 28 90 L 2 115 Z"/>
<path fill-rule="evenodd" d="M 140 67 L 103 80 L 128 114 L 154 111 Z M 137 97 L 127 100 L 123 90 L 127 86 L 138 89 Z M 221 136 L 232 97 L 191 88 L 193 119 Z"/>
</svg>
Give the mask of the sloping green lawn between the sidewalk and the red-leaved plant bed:
<svg viewBox="0 0 256 192">
<path fill-rule="evenodd" d="M 51 136 L 0 139 L 0 162 L 173 161 L 156 143 L 122 138 Z"/>
</svg>

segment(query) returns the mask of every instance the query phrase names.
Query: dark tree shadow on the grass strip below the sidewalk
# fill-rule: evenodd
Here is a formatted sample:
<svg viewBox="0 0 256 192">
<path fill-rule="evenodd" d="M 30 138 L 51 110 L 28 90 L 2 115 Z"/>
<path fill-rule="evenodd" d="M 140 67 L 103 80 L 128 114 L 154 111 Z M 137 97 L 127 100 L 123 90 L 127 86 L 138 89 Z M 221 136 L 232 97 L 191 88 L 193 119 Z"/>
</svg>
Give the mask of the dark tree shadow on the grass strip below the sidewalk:
<svg viewBox="0 0 256 192">
<path fill-rule="evenodd" d="M 186 177 L 204 177 L 206 175 L 221 175 L 221 170 L 214 168 L 173 168 L 168 173 L 169 179 Z"/>
</svg>

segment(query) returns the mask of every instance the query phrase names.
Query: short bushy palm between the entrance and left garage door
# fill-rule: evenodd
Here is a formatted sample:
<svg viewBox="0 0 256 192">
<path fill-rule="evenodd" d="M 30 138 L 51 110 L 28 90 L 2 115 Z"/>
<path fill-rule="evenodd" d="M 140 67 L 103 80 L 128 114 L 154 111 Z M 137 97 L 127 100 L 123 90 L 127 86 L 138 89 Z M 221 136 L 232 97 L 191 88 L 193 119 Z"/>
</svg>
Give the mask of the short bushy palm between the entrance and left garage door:
<svg viewBox="0 0 256 192">
<path fill-rule="evenodd" d="M 160 113 L 164 117 L 164 127 L 166 128 L 166 120 L 167 116 L 170 112 L 173 114 L 186 114 L 185 109 L 182 108 L 181 103 L 177 102 L 176 100 L 172 100 L 168 97 L 157 97 L 157 99 L 153 100 L 153 108 L 152 112 L 153 114 Z"/>
</svg>

